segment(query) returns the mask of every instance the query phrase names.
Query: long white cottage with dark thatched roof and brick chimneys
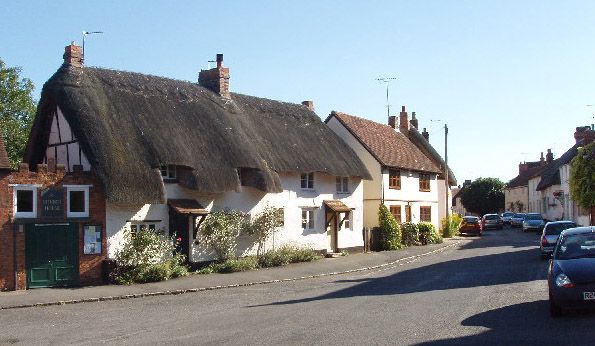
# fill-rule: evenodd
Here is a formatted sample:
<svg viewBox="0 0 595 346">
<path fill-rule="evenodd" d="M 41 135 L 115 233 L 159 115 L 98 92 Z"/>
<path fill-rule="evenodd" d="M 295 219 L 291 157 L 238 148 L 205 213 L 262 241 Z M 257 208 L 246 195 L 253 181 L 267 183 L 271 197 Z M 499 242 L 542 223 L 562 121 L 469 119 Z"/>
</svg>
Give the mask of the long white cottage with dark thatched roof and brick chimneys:
<svg viewBox="0 0 595 346">
<path fill-rule="evenodd" d="M 70 45 L 45 83 L 26 162 L 93 172 L 105 193 L 107 257 L 125 229 L 182 239 L 191 262 L 212 259 L 197 234 L 213 210 L 283 213 L 283 243 L 337 252 L 363 247 L 357 155 L 314 113 L 229 91 L 223 56 L 198 83 L 83 65 Z M 272 244 L 271 244 L 272 246 Z M 253 251 L 248 239 L 238 255 Z"/>
</svg>

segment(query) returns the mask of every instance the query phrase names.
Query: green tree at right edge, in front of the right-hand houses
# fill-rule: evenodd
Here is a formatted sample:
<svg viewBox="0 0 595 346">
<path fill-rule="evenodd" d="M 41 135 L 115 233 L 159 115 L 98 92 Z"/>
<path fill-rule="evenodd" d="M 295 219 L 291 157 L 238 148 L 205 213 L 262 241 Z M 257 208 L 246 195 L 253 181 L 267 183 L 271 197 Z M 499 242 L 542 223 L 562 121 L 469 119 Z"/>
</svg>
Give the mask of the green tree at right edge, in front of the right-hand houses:
<svg viewBox="0 0 595 346">
<path fill-rule="evenodd" d="M 579 148 L 570 162 L 570 194 L 583 208 L 595 205 L 595 142 Z"/>
</svg>

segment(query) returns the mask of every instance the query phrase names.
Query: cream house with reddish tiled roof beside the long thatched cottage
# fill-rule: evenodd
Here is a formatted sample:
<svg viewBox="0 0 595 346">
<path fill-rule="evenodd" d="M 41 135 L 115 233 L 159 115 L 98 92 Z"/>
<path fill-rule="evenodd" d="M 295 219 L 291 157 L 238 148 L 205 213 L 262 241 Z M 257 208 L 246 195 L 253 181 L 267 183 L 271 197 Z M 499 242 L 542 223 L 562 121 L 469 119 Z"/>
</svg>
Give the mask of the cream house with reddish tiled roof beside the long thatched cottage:
<svg viewBox="0 0 595 346">
<path fill-rule="evenodd" d="M 425 221 L 439 228 L 443 197 L 438 177 L 442 170 L 410 139 L 410 132 L 417 130 L 410 128 L 404 107 L 399 129 L 395 117 L 384 125 L 332 112 L 325 122 L 357 153 L 372 175 L 371 180 L 364 181 L 365 227 L 378 225 L 378 207 L 384 204 L 397 222 Z"/>
</svg>

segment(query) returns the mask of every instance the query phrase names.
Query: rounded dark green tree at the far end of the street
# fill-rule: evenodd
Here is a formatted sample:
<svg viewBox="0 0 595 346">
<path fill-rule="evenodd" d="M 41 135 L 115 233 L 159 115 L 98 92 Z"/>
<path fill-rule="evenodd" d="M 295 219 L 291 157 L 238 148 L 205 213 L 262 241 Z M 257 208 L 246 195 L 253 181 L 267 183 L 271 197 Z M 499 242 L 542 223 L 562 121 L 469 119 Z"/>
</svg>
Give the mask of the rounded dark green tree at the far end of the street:
<svg viewBox="0 0 595 346">
<path fill-rule="evenodd" d="M 504 183 L 497 178 L 478 178 L 461 193 L 465 208 L 484 215 L 504 209 Z"/>
</svg>

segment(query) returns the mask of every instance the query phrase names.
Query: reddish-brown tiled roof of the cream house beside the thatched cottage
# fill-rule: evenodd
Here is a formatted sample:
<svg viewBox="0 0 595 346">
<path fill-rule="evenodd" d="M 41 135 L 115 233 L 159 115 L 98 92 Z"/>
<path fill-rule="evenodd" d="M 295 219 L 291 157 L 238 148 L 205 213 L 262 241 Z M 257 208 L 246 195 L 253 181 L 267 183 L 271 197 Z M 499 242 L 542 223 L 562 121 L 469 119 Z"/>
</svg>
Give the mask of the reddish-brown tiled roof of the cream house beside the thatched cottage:
<svg viewBox="0 0 595 346">
<path fill-rule="evenodd" d="M 420 172 L 441 172 L 407 136 L 392 127 L 341 112 L 332 112 L 332 116 L 335 116 L 381 165 Z"/>
</svg>

